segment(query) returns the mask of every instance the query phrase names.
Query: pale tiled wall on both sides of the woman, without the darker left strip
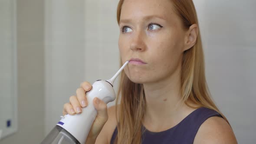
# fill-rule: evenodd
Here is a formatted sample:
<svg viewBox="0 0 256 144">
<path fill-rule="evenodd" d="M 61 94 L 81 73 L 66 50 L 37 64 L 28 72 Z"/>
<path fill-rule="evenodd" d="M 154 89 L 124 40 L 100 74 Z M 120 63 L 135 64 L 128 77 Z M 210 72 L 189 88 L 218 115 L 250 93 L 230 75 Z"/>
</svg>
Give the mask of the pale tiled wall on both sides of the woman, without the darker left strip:
<svg viewBox="0 0 256 144">
<path fill-rule="evenodd" d="M 194 2 L 210 92 L 230 121 L 238 142 L 253 144 L 256 2 Z M 118 0 L 46 0 L 46 134 L 59 120 L 63 104 L 75 94 L 80 82 L 109 79 L 117 71 L 117 3 Z"/>
</svg>

